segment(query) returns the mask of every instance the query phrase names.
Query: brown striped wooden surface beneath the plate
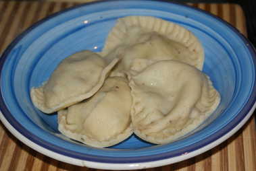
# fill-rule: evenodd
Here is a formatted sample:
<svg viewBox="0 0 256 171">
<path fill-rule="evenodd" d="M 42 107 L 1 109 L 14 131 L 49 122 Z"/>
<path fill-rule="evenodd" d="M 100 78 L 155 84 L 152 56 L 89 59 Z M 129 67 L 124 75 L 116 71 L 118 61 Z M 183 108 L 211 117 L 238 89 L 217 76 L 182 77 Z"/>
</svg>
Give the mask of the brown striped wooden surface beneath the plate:
<svg viewBox="0 0 256 171">
<path fill-rule="evenodd" d="M 78 4 L 64 1 L 0 1 L 0 54 L 11 40 L 34 22 Z M 189 5 L 210 11 L 247 35 L 245 16 L 240 6 L 212 3 Z M 214 149 L 183 162 L 147 170 L 256 170 L 255 149 L 255 122 L 252 117 L 240 131 Z M 0 170 L 95 169 L 73 166 L 44 156 L 16 139 L 0 122 Z"/>
</svg>

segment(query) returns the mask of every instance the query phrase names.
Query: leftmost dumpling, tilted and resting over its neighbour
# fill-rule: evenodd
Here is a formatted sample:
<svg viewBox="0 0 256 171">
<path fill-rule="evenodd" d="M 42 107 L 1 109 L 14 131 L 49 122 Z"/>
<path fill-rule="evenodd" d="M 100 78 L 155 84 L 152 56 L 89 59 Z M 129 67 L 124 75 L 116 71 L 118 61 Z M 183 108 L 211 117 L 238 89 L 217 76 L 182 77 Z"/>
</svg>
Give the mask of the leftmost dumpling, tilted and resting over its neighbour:
<svg viewBox="0 0 256 171">
<path fill-rule="evenodd" d="M 90 98 L 103 85 L 118 59 L 105 61 L 84 50 L 61 61 L 43 86 L 32 88 L 30 96 L 36 108 L 52 113 Z"/>
</svg>

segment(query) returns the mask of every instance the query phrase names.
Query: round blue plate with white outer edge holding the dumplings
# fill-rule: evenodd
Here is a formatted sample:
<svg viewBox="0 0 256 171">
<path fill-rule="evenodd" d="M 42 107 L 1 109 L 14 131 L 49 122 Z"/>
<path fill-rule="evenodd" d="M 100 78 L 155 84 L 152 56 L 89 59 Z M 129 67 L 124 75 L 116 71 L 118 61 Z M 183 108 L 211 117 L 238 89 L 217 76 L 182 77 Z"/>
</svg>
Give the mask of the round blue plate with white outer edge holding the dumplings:
<svg viewBox="0 0 256 171">
<path fill-rule="evenodd" d="M 118 18 L 151 15 L 193 32 L 205 49 L 203 71 L 222 101 L 189 136 L 152 145 L 132 135 L 99 149 L 66 139 L 57 131 L 56 115 L 43 114 L 30 100 L 30 88 L 46 81 L 64 58 L 80 50 L 100 51 Z M 1 112 L 18 139 L 51 158 L 93 168 L 138 169 L 191 158 L 233 135 L 255 108 L 255 50 L 232 26 L 199 9 L 165 1 L 103 1 L 61 11 L 34 24 L 1 57 Z"/>
</svg>

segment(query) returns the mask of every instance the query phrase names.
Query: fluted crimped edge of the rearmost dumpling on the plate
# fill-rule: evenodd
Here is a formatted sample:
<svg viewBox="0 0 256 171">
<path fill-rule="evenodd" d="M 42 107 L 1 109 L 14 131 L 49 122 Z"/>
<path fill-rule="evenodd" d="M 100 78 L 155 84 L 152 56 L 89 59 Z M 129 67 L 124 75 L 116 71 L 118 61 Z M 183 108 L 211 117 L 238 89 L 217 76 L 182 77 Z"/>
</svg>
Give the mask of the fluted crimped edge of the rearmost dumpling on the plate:
<svg viewBox="0 0 256 171">
<path fill-rule="evenodd" d="M 146 32 L 157 32 L 171 40 L 180 42 L 184 46 L 188 47 L 190 52 L 195 53 L 197 57 L 197 68 L 202 70 L 205 59 L 203 46 L 199 39 L 186 28 L 151 16 L 128 16 L 119 18 L 116 26 L 112 28 L 105 41 L 105 46 L 100 53 L 101 55 L 107 55 L 111 50 L 118 47 L 120 44 L 124 44 L 124 40 L 127 39 L 127 30 L 131 27 L 138 26 L 143 28 Z M 132 43 L 132 39 L 129 38 L 127 43 Z"/>
</svg>

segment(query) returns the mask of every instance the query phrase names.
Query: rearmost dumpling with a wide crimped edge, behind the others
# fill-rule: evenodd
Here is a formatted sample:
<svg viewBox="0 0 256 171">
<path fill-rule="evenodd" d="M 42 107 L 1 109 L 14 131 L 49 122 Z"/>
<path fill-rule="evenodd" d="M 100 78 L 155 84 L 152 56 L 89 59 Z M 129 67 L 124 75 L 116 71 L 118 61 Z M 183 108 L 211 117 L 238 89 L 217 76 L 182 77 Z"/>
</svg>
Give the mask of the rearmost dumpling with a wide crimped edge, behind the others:
<svg viewBox="0 0 256 171">
<path fill-rule="evenodd" d="M 122 59 L 115 71 L 127 71 L 135 58 L 177 60 L 200 70 L 204 62 L 203 47 L 192 32 L 149 16 L 120 18 L 109 33 L 101 54 L 107 59 Z"/>
</svg>

